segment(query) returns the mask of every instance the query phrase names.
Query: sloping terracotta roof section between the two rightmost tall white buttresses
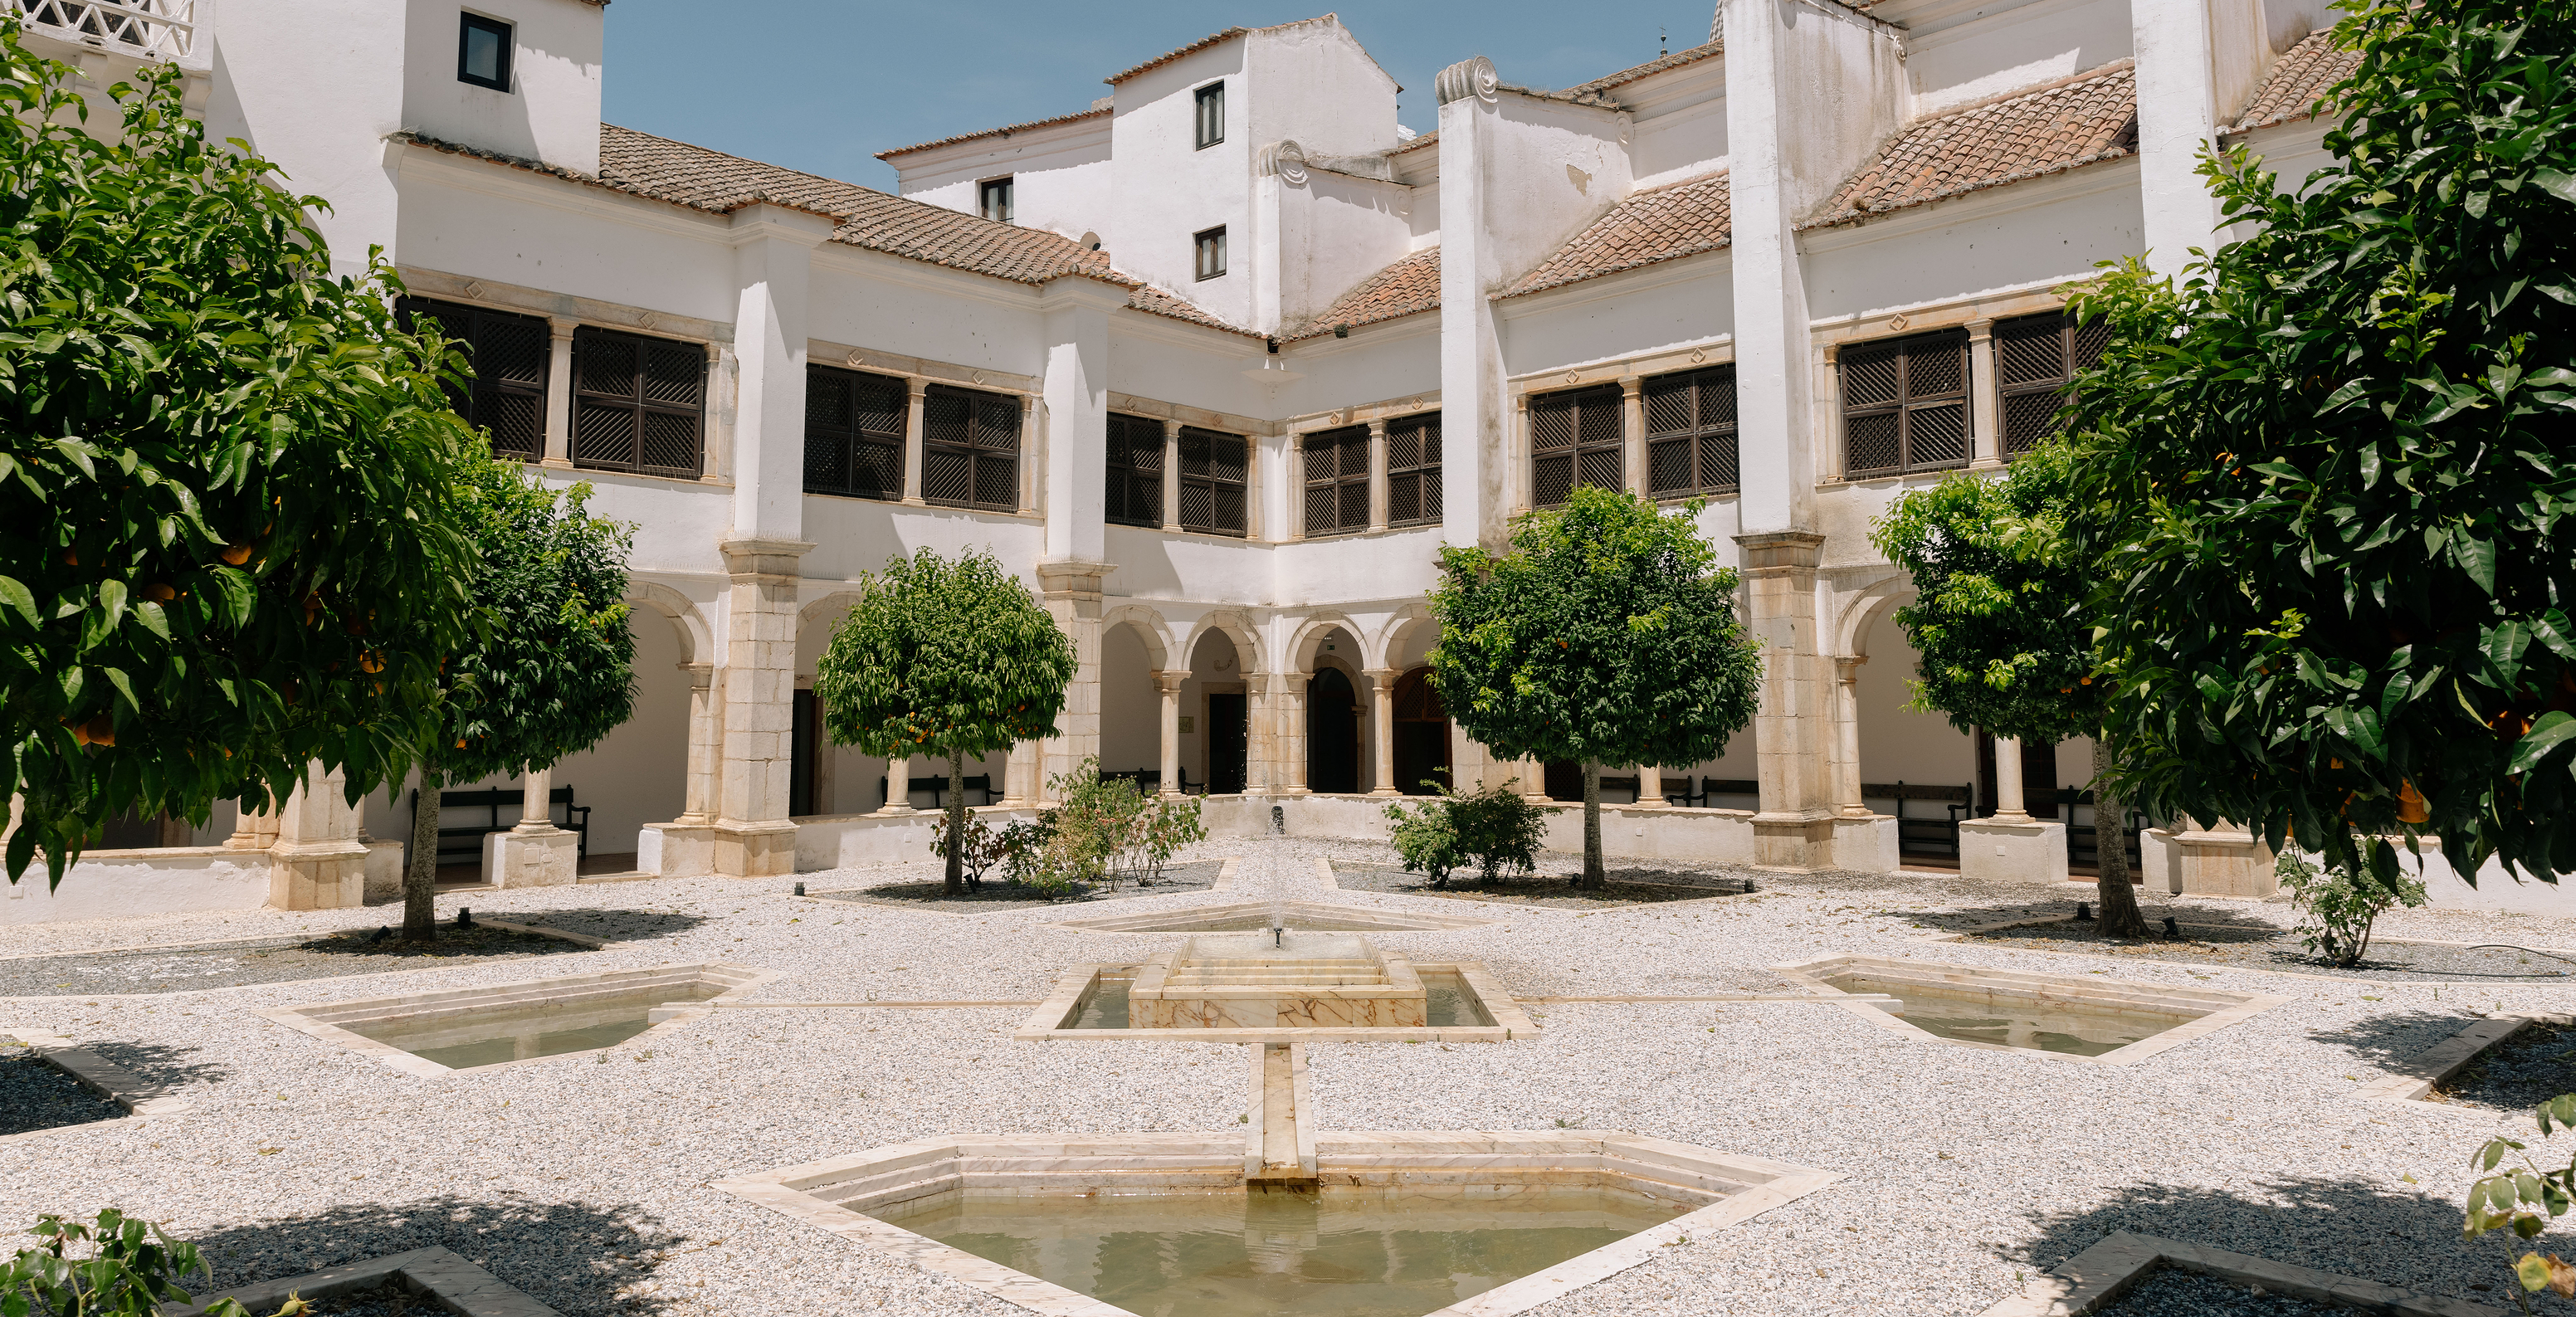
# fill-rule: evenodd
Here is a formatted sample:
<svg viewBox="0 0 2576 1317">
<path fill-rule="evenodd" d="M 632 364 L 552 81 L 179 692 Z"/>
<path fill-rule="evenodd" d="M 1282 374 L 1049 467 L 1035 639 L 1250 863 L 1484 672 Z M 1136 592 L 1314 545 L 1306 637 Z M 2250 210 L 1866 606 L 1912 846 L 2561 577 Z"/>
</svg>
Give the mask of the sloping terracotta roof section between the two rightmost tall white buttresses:
<svg viewBox="0 0 2576 1317">
<path fill-rule="evenodd" d="M 2136 155 L 2138 75 L 2128 59 L 1917 121 L 1824 206 L 1821 229 L 1950 196 Z"/>
</svg>

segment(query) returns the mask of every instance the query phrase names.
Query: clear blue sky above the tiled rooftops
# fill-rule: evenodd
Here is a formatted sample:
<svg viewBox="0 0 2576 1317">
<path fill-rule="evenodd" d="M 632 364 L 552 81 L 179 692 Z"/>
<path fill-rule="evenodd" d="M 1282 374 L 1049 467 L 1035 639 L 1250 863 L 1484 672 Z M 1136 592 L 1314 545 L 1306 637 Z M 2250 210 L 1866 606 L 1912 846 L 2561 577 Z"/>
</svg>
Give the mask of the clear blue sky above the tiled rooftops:
<svg viewBox="0 0 2576 1317">
<path fill-rule="evenodd" d="M 1432 75 L 1484 54 L 1504 82 L 1566 88 L 1708 41 L 1713 0 L 616 0 L 605 119 L 894 191 L 873 152 L 1072 113 L 1103 77 L 1234 23 L 1334 10 L 1437 124 Z"/>
</svg>

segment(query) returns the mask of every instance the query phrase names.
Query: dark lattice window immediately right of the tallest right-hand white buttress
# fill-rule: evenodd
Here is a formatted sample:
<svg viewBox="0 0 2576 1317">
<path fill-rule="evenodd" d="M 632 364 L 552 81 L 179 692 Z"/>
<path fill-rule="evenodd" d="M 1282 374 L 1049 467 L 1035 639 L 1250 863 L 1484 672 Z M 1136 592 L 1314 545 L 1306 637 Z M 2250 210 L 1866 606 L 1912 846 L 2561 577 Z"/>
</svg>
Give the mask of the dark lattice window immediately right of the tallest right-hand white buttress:
<svg viewBox="0 0 2576 1317">
<path fill-rule="evenodd" d="M 1968 330 L 1842 348 L 1842 474 L 1968 464 Z"/>
</svg>

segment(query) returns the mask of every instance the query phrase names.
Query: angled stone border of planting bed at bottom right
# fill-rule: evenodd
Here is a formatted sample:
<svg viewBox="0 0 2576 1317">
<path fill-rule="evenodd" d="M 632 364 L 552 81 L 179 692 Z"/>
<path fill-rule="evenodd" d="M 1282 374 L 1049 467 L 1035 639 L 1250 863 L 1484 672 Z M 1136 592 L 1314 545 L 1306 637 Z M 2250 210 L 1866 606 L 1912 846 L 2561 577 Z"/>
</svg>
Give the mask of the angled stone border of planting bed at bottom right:
<svg viewBox="0 0 2576 1317">
<path fill-rule="evenodd" d="M 2045 1276 L 2030 1281 L 2020 1294 L 1989 1307 L 1978 1317 L 2081 1317 L 2102 1312 L 2159 1265 L 2197 1271 L 2241 1286 L 2262 1286 L 2272 1294 L 2293 1294 L 2311 1304 L 2380 1312 L 2388 1317 L 2504 1317 L 2504 1309 L 2470 1304 L 2468 1299 L 2442 1299 L 2331 1271 L 2187 1245 L 2182 1240 L 2159 1240 L 2156 1235 L 2130 1235 L 2125 1229 L 2066 1258 Z"/>
</svg>

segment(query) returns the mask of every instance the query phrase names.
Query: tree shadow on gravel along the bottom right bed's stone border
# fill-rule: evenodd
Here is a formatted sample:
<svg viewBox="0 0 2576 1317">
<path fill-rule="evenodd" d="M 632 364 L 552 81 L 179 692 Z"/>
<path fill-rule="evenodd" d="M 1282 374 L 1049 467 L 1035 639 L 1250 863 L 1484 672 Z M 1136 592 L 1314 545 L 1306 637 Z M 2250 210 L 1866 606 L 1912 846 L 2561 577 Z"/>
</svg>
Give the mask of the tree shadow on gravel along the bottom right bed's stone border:
<svg viewBox="0 0 2576 1317">
<path fill-rule="evenodd" d="M 2452 1142 L 2465 1157 L 2481 1139 L 2463 1131 Z M 2427 1157 L 2442 1160 L 2450 1149 L 2429 1149 Z M 2509 1258 L 2527 1247 L 2512 1235 L 2463 1242 L 2458 1201 L 2321 1175 L 2285 1175 L 2239 1191 L 2128 1186 L 2102 1206 L 2032 1216 L 2032 1227 L 2035 1240 L 1999 1253 L 2038 1271 L 2133 1229 L 2491 1307 L 2512 1304 Z M 2532 1309 L 2566 1314 L 2576 1304 L 2540 1294 Z"/>
</svg>

